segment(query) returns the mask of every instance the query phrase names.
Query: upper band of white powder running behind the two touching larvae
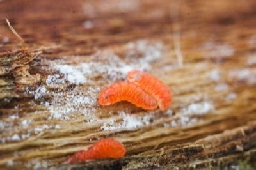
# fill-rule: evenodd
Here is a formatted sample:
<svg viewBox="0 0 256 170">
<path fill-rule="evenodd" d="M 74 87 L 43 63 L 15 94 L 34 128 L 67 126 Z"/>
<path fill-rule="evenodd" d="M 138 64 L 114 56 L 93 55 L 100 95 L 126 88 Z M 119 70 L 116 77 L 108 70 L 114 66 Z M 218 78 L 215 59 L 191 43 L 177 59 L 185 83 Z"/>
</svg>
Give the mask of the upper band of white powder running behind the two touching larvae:
<svg viewBox="0 0 256 170">
<path fill-rule="evenodd" d="M 108 81 L 124 79 L 131 70 L 150 70 L 150 64 L 161 59 L 163 55 L 163 44 L 161 42 L 150 43 L 147 40 L 138 40 L 127 43 L 125 58 L 121 59 L 111 52 L 97 52 L 93 56 L 102 61 L 81 62 L 77 65 L 67 65 L 64 61 L 51 62 L 51 68 L 58 73 L 48 75 L 47 85 L 63 84 L 85 84 L 92 81 L 93 77 L 99 75 Z"/>
</svg>

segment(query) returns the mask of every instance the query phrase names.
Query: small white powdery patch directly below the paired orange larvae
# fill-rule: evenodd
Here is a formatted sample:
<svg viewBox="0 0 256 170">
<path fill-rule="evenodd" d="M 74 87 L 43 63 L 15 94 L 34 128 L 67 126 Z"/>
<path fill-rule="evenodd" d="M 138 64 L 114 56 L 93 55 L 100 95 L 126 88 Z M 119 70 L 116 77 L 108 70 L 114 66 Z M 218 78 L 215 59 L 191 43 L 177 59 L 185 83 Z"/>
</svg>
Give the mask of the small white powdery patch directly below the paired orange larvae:
<svg viewBox="0 0 256 170">
<path fill-rule="evenodd" d="M 104 123 L 101 127 L 102 130 L 136 130 L 137 128 L 148 125 L 152 120 L 151 115 L 146 116 L 133 116 L 131 114 L 125 114 L 122 112 L 122 123 L 115 123 L 115 121 L 110 120 L 108 123 Z"/>
</svg>

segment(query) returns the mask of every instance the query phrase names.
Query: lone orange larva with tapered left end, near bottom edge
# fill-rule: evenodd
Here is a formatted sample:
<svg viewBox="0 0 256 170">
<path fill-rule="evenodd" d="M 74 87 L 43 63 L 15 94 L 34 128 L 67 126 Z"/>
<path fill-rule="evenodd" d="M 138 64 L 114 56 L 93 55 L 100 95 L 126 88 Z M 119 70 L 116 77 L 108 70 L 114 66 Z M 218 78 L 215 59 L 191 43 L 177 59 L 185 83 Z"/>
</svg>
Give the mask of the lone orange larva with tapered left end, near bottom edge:
<svg viewBox="0 0 256 170">
<path fill-rule="evenodd" d="M 88 150 L 78 151 L 72 157 L 68 158 L 67 163 L 84 162 L 86 160 L 104 159 L 104 158 L 122 158 L 126 150 L 124 145 L 114 139 L 106 138 L 97 141 Z"/>
</svg>

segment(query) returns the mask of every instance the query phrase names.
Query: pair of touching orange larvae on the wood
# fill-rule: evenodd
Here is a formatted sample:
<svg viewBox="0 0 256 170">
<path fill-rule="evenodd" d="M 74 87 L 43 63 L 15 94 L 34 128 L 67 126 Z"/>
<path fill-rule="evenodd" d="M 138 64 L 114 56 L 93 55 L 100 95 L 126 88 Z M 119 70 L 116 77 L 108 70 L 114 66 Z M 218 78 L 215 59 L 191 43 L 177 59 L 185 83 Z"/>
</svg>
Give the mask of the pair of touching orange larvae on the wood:
<svg viewBox="0 0 256 170">
<path fill-rule="evenodd" d="M 168 86 L 147 72 L 134 70 L 128 72 L 129 82 L 117 82 L 105 88 L 99 96 L 100 105 L 111 105 L 128 101 L 143 109 L 152 110 L 159 107 L 167 109 L 172 102 L 172 93 Z"/>
</svg>

